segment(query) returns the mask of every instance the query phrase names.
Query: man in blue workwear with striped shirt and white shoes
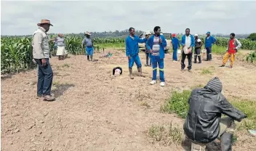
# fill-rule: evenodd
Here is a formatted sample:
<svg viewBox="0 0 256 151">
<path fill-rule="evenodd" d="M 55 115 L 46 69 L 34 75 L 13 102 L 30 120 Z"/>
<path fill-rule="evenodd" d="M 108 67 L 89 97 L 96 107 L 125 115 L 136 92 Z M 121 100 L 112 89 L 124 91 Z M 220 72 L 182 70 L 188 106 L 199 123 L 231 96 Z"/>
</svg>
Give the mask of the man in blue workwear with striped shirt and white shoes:
<svg viewBox="0 0 256 151">
<path fill-rule="evenodd" d="M 156 83 L 157 65 L 159 65 L 160 86 L 164 86 L 164 47 L 167 46 L 167 41 L 163 35 L 160 35 L 161 28 L 156 26 L 153 28 L 154 35 L 148 39 L 146 46 L 151 50 L 151 61 L 153 67 L 153 78 L 151 84 Z"/>
</svg>

